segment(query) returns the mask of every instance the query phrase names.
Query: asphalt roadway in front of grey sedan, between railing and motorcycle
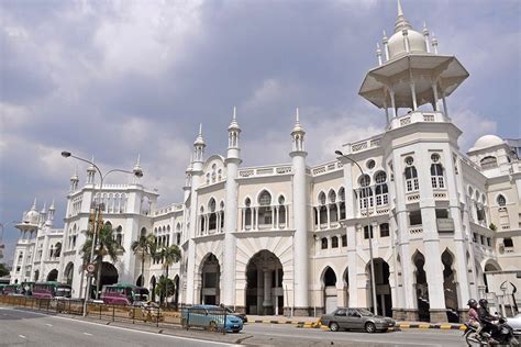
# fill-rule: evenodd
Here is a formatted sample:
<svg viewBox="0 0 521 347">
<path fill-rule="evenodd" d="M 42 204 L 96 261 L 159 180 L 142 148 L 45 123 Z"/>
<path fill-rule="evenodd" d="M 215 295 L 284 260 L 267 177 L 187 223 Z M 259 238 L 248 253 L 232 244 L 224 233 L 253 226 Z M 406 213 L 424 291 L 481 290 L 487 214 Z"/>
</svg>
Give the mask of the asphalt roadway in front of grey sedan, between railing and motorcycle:
<svg viewBox="0 0 521 347">
<path fill-rule="evenodd" d="M 439 329 L 403 329 L 401 332 L 367 334 L 297 328 L 291 325 L 248 324 L 244 333 L 253 335 L 244 343 L 271 346 L 466 346 L 463 332 Z"/>
</svg>

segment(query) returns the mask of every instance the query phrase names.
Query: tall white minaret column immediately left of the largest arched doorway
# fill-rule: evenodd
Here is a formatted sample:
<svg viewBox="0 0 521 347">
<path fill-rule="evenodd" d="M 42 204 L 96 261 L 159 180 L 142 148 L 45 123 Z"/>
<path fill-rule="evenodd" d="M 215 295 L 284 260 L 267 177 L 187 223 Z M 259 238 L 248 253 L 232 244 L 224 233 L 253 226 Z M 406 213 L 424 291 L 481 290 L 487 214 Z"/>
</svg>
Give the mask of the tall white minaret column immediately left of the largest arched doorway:
<svg viewBox="0 0 521 347">
<path fill-rule="evenodd" d="M 236 108 L 233 108 L 232 122 L 228 127 L 228 156 L 224 160 L 226 166 L 226 200 L 224 214 L 224 268 L 222 302 L 232 306 L 235 303 L 235 261 L 236 240 L 233 235 L 237 231 L 237 172 L 241 165 L 239 137 L 241 127 L 237 123 Z"/>
</svg>

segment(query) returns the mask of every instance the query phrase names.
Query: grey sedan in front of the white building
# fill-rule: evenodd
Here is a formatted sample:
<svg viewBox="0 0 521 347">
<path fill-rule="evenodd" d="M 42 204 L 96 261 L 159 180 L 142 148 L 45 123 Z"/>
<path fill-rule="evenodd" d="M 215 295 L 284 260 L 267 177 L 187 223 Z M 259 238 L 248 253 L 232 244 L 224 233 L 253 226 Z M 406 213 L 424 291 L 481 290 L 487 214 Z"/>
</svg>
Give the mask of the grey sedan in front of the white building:
<svg viewBox="0 0 521 347">
<path fill-rule="evenodd" d="M 364 329 L 367 333 L 387 331 L 396 325 L 389 317 L 375 315 L 366 309 L 339 307 L 333 313 L 320 317 L 322 325 L 329 326 L 332 332 L 340 329 Z"/>
</svg>

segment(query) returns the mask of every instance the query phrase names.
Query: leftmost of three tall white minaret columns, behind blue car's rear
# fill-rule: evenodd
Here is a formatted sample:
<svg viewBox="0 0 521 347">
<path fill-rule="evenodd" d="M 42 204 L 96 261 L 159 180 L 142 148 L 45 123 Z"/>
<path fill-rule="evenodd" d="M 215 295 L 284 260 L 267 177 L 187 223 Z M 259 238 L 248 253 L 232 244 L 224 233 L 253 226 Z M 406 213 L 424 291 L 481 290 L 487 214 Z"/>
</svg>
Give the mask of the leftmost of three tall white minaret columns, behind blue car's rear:
<svg viewBox="0 0 521 347">
<path fill-rule="evenodd" d="M 193 161 L 192 161 L 192 178 L 191 178 L 191 193 L 190 193 L 190 228 L 187 230 L 188 238 L 188 256 L 187 256 L 187 291 L 186 291 L 186 303 L 195 304 L 195 276 L 196 276 L 196 237 L 197 230 L 197 202 L 198 202 L 198 188 L 203 169 L 203 155 L 204 155 L 204 139 L 202 138 L 202 124 L 199 124 L 199 134 L 193 143 Z"/>
</svg>

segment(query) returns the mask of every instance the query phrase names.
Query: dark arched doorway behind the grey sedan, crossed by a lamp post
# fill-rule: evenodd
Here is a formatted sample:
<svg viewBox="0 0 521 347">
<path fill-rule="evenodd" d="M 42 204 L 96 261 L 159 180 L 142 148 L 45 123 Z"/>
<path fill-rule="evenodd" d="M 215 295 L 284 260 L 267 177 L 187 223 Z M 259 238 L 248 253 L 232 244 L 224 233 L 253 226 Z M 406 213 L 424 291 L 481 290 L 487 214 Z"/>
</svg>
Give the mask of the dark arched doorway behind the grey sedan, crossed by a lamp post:
<svg viewBox="0 0 521 347">
<path fill-rule="evenodd" d="M 375 264 L 376 309 L 379 315 L 390 317 L 392 316 L 392 299 L 389 284 L 389 264 L 381 258 L 375 258 L 373 259 L 373 262 Z M 370 310 L 373 311 L 374 302 L 370 283 L 370 261 L 367 264 L 366 273 L 369 281 L 367 295 L 370 304 L 368 306 L 370 306 Z"/>
</svg>

